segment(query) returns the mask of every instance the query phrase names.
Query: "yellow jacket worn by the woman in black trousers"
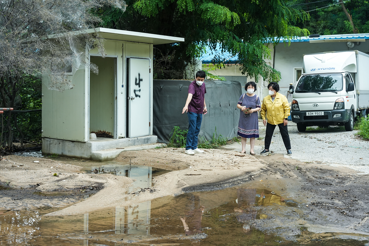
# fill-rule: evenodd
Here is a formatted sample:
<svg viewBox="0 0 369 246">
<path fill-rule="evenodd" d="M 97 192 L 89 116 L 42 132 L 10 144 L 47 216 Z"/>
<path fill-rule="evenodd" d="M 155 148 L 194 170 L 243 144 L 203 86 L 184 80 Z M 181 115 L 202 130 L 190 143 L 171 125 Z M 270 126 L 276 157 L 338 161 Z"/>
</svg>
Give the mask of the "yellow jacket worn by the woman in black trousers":
<svg viewBox="0 0 369 246">
<path fill-rule="evenodd" d="M 266 116 L 269 124 L 277 125 L 290 115 L 290 105 L 287 98 L 277 92 L 274 101 L 269 95 L 263 99 L 260 112 L 263 120 Z"/>
</svg>

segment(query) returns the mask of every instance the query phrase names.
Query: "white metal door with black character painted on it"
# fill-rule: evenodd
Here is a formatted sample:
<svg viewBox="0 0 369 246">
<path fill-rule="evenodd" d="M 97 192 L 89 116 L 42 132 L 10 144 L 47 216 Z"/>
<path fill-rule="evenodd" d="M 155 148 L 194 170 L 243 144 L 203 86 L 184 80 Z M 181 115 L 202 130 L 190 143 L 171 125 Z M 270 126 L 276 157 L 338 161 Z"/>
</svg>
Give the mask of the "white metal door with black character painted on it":
<svg viewBox="0 0 369 246">
<path fill-rule="evenodd" d="M 150 135 L 149 73 L 149 59 L 129 59 L 128 137 Z"/>
</svg>

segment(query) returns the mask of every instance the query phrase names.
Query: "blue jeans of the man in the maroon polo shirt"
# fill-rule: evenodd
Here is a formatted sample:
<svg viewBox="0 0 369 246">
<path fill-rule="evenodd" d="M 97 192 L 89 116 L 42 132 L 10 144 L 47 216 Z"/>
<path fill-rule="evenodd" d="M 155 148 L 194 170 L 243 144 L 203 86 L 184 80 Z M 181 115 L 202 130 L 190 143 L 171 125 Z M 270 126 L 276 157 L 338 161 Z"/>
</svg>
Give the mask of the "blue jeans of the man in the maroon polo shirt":
<svg viewBox="0 0 369 246">
<path fill-rule="evenodd" d="M 188 116 L 188 132 L 186 139 L 186 150 L 197 148 L 197 139 L 200 133 L 201 120 L 203 114 L 197 114 L 193 112 L 187 112 Z"/>
</svg>

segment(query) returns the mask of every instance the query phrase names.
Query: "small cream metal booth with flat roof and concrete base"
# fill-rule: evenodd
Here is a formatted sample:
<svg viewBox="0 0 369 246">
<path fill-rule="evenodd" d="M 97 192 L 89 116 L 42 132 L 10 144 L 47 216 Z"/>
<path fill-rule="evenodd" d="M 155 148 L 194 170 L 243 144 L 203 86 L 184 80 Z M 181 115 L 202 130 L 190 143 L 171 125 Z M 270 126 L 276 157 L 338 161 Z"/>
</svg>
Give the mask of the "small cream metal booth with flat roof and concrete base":
<svg viewBox="0 0 369 246">
<path fill-rule="evenodd" d="M 85 32 L 103 38 L 106 57 L 86 48 L 88 62 L 72 66 L 67 76 L 73 88 L 62 92 L 48 89 L 51 79 L 42 76 L 42 153 L 102 161 L 117 157 L 123 147 L 152 147 L 147 144 L 157 141 L 152 134 L 153 45 L 184 39 L 108 28 Z M 90 62 L 98 66 L 98 75 L 86 68 Z M 90 133 L 108 137 L 95 139 Z"/>
</svg>

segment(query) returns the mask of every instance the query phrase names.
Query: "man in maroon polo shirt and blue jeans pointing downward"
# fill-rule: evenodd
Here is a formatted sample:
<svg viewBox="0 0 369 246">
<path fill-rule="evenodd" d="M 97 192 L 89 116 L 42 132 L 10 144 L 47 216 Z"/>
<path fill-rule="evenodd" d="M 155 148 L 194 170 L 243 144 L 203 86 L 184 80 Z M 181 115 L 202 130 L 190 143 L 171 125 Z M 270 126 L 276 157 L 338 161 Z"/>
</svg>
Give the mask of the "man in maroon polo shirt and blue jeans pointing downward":
<svg viewBox="0 0 369 246">
<path fill-rule="evenodd" d="M 206 74 L 204 71 L 197 71 L 196 79 L 192 81 L 188 87 L 186 105 L 184 105 L 182 110 L 182 113 L 187 112 L 188 116 L 186 151 L 184 151 L 184 153 L 189 155 L 204 152 L 197 148 L 197 140 L 200 133 L 203 114 L 207 112 L 205 104 L 205 76 Z"/>
</svg>

